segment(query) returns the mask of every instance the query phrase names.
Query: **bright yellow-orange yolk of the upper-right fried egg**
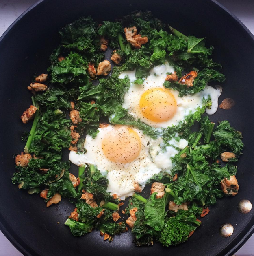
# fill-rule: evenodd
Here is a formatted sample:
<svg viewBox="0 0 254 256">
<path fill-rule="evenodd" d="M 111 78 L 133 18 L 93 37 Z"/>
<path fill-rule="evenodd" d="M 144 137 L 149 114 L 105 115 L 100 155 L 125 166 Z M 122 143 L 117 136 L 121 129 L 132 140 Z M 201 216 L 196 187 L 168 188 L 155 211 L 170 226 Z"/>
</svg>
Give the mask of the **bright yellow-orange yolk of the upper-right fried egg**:
<svg viewBox="0 0 254 256">
<path fill-rule="evenodd" d="M 151 88 L 141 95 L 139 107 L 144 117 L 150 121 L 161 123 L 170 120 L 175 115 L 177 104 L 170 90 Z"/>
</svg>

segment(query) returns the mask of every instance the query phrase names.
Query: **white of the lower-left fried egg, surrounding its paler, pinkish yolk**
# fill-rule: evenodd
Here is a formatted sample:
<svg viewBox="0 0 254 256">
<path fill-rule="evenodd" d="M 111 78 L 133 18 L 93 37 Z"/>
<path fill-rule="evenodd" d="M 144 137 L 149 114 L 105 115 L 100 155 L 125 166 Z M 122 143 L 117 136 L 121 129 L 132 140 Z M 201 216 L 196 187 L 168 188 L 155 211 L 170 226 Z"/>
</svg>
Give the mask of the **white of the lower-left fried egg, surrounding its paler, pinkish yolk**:
<svg viewBox="0 0 254 256">
<path fill-rule="evenodd" d="M 141 140 L 141 150 L 139 156 L 130 163 L 115 163 L 104 155 L 102 141 L 107 133 L 113 130 L 111 125 L 99 128 L 99 133 L 95 139 L 87 135 L 84 144 L 87 149 L 85 154 L 77 154 L 75 151 L 71 151 L 69 155 L 70 161 L 78 166 L 85 163 L 96 165 L 102 174 L 107 175 L 109 180 L 107 192 L 117 194 L 122 200 L 133 194 L 135 183 L 143 189 L 147 180 L 154 174 L 161 171 L 170 173 L 172 169 L 171 157 L 178 153 L 176 148 L 183 149 L 188 144 L 185 139 L 179 141 L 171 139 L 169 143 L 174 146 L 167 146 L 163 151 L 164 144 L 161 137 L 151 139 L 144 135 L 141 130 L 132 129 L 137 132 Z"/>
</svg>

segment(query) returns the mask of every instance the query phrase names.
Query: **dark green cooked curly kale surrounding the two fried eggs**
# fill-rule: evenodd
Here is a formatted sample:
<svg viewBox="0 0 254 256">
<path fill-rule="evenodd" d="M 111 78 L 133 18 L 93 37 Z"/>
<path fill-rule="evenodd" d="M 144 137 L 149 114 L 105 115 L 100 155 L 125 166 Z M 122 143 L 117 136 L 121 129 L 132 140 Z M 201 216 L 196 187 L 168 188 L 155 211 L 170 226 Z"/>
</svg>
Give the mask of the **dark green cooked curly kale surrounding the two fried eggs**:
<svg viewBox="0 0 254 256">
<path fill-rule="evenodd" d="M 135 30 L 136 38 L 148 40 L 145 38 L 146 43 L 135 45 L 135 37 L 132 41 L 126 37 L 125 27 L 134 27 L 131 33 Z M 49 59 L 47 90 L 32 97 L 37 110 L 30 132 L 22 135 L 28 160 L 22 165 L 16 160 L 17 172 L 12 182 L 29 194 L 43 191 L 41 197 L 47 202 L 55 195 L 69 198 L 76 207 L 65 222 L 72 234 L 81 236 L 97 229 L 104 240 L 112 241 L 113 235 L 127 230 L 124 221 L 117 221 L 122 204 L 107 192 L 109 180 L 95 165 L 80 165 L 78 178 L 70 174 L 70 162 L 63 161 L 63 150 L 70 148 L 85 154 L 88 149 L 82 135 L 96 138 L 101 123 L 134 126 L 152 139 L 161 137 L 163 150 L 172 146 L 171 139 L 186 139 L 185 148 L 173 145 L 178 153 L 171 158 L 171 172 L 162 171 L 147 181 L 159 183 L 163 196 L 157 190 L 146 198 L 134 193 L 122 211 L 130 215 L 126 223 L 132 228 L 136 246 L 153 245 L 154 241 L 171 246 L 186 241 L 201 225 L 198 218 L 204 207 L 215 204 L 225 194 L 237 193 L 238 185 L 232 184 L 237 166 L 232 162 L 242 154 L 241 132 L 228 121 L 217 125 L 207 116 L 202 117 L 206 108 L 211 107 L 210 96 L 178 125 L 151 127 L 122 107 L 131 81 L 128 76 L 119 78 L 119 75 L 135 70 L 133 83 L 143 86 L 152 68 L 168 63 L 175 73 L 167 75 L 176 79 L 168 79 L 163 86 L 178 91 L 179 97 L 193 95 L 208 82 L 225 80 L 221 65 L 211 59 L 213 47 L 206 45 L 205 38 L 186 36 L 164 24 L 149 11 L 136 11 L 116 22 L 102 24 L 83 17 L 60 29 L 59 35 L 61 44 Z M 121 61 L 115 62 L 118 66 L 112 68 L 110 75 L 97 79 L 96 70 L 105 60 L 107 47 L 112 48 L 111 56 L 117 53 Z M 187 86 L 180 78 L 191 71 L 196 77 Z M 69 119 L 69 111 L 79 118 Z M 194 124 L 199 125 L 196 131 Z M 76 142 L 74 135 L 78 137 Z M 223 153 L 234 157 L 220 164 Z M 23 152 L 17 157 L 24 157 Z"/>
</svg>

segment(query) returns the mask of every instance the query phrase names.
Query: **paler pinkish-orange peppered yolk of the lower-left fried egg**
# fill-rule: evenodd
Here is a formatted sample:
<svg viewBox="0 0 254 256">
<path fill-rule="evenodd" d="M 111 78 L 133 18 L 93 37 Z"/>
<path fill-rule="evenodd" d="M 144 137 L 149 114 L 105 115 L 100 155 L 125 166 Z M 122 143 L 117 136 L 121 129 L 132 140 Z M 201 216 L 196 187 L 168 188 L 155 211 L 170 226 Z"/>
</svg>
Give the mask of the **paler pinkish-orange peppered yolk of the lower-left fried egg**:
<svg viewBox="0 0 254 256">
<path fill-rule="evenodd" d="M 114 126 L 102 140 L 102 150 L 115 163 L 130 163 L 139 156 L 141 140 L 132 128 Z"/>
</svg>

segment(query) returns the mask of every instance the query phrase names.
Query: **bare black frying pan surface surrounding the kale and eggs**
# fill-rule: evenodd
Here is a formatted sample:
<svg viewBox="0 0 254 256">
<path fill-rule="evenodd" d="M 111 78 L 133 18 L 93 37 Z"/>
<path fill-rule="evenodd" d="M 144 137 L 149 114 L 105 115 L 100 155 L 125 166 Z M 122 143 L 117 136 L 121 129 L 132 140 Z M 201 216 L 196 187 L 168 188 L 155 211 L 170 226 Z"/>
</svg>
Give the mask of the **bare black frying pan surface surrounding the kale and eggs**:
<svg viewBox="0 0 254 256">
<path fill-rule="evenodd" d="M 11 183 L 15 171 L 12 156 L 22 152 L 20 135 L 30 129 L 20 121 L 30 104 L 26 87 L 35 72 L 46 71 L 48 56 L 59 44 L 59 28 L 83 15 L 99 21 L 114 20 L 140 9 L 152 11 L 186 35 L 207 37 L 207 44 L 215 47 L 214 60 L 222 64 L 227 78 L 219 103 L 229 97 L 236 104 L 231 110 L 219 109 L 211 119 L 229 120 L 243 133 L 245 143 L 238 163 L 239 194 L 218 200 L 189 241 L 170 248 L 159 244 L 134 247 L 130 232 L 115 236 L 112 243 L 103 241 L 98 231 L 76 238 L 63 225 L 73 210 L 67 200 L 46 208 L 39 196 L 30 196 Z M 254 210 L 246 215 L 237 211 L 241 199 L 254 203 L 253 70 L 253 36 L 237 18 L 211 0 L 44 0 L 35 4 L 0 39 L 0 229 L 23 254 L 33 256 L 232 255 L 254 231 Z M 230 238 L 219 235 L 223 223 L 234 226 Z"/>
</svg>

